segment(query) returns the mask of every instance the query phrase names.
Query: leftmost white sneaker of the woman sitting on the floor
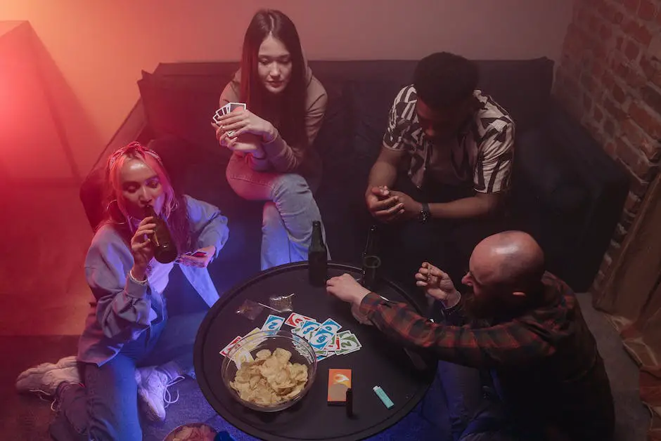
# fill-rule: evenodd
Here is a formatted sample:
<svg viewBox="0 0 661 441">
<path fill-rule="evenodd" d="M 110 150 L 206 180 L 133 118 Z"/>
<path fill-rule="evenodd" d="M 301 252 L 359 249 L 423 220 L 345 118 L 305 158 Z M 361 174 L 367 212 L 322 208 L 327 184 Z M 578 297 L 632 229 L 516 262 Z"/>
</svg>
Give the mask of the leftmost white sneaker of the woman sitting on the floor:
<svg viewBox="0 0 661 441">
<path fill-rule="evenodd" d="M 21 372 L 16 379 L 16 390 L 53 396 L 63 382 L 81 383 L 75 357 L 65 357 L 57 363 L 42 363 Z"/>
</svg>

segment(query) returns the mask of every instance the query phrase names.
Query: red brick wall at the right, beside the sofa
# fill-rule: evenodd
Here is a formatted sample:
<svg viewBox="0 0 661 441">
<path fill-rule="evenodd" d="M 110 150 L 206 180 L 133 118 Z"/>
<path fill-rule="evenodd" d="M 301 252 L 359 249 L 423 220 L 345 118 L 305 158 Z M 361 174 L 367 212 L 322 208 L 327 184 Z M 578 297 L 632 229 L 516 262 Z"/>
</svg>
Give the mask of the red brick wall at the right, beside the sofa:
<svg viewBox="0 0 661 441">
<path fill-rule="evenodd" d="M 553 88 L 631 177 L 599 292 L 661 157 L 661 0 L 575 0 Z"/>
</svg>

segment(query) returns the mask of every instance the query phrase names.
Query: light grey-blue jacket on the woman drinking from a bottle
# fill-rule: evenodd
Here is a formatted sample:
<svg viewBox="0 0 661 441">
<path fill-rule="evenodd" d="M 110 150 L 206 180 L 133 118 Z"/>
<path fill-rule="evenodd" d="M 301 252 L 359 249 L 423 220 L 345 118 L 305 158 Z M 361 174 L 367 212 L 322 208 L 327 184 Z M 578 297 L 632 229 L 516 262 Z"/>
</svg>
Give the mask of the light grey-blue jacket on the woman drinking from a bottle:
<svg viewBox="0 0 661 441">
<path fill-rule="evenodd" d="M 185 196 L 193 249 L 214 245 L 217 257 L 229 237 L 227 218 L 211 204 Z M 87 284 L 94 295 L 78 344 L 78 360 L 101 366 L 162 320 L 162 293 L 128 277 L 133 267 L 129 244 L 110 224 L 99 228 L 85 259 Z M 219 296 L 207 268 L 181 265 L 195 291 L 211 306 Z"/>
</svg>

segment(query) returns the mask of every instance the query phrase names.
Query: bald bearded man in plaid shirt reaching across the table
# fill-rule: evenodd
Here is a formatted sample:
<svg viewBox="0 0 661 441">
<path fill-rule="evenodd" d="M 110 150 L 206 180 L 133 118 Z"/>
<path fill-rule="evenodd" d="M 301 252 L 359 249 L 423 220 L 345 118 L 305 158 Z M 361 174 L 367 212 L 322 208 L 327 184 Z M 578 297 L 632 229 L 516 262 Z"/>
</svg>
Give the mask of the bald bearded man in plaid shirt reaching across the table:
<svg viewBox="0 0 661 441">
<path fill-rule="evenodd" d="M 489 236 L 475 246 L 462 282 L 469 288 L 464 296 L 429 263 L 416 274 L 418 287 L 442 305 L 443 323 L 371 293 L 350 275 L 329 279 L 327 289 L 359 305 L 361 315 L 387 336 L 433 351 L 439 366 L 488 369 L 496 400 L 465 400 L 474 403 L 472 413 L 454 430 L 455 439 L 496 439 L 475 435 L 499 433 L 493 421 L 479 421 L 484 412 L 494 419 L 487 409 L 496 402 L 497 425 L 509 428 L 508 439 L 610 440 L 615 416 L 603 360 L 574 293 L 545 272 L 539 244 L 524 232 Z M 460 385 L 467 394 L 481 389 L 466 384 L 470 376 L 449 378 L 452 372 L 439 370 L 444 386 Z"/>
</svg>

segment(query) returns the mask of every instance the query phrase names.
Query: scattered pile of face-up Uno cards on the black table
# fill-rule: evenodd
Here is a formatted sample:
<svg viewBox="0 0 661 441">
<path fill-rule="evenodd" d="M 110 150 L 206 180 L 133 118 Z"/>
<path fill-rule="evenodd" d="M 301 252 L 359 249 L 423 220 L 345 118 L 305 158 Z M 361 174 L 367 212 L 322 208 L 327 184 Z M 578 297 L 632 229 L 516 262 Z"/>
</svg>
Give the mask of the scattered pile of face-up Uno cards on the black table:
<svg viewBox="0 0 661 441">
<path fill-rule="evenodd" d="M 362 348 L 358 337 L 352 331 L 340 331 L 342 325 L 335 320 L 328 318 L 319 322 L 312 317 L 292 312 L 287 318 L 269 315 L 261 329 L 255 328 L 243 337 L 236 336 L 220 354 L 226 357 L 242 338 L 258 331 L 279 331 L 283 324 L 291 328 L 292 334 L 305 338 L 310 343 L 318 362 L 333 355 L 347 355 Z"/>
</svg>

